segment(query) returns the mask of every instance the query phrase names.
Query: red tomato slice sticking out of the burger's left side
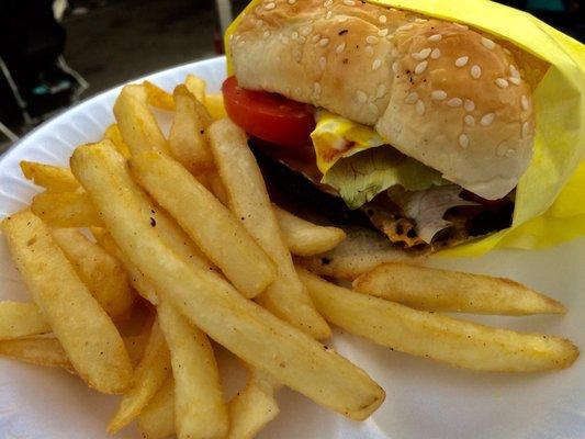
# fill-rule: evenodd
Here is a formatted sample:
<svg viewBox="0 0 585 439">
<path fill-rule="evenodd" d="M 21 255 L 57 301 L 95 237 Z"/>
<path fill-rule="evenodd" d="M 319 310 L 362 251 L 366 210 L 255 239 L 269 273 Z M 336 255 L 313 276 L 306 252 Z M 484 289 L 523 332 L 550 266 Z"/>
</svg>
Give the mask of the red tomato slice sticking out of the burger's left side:
<svg viewBox="0 0 585 439">
<path fill-rule="evenodd" d="M 234 76 L 224 81 L 222 92 L 229 119 L 248 134 L 278 145 L 312 145 L 310 135 L 315 130 L 312 105 L 277 93 L 243 89 Z"/>
</svg>

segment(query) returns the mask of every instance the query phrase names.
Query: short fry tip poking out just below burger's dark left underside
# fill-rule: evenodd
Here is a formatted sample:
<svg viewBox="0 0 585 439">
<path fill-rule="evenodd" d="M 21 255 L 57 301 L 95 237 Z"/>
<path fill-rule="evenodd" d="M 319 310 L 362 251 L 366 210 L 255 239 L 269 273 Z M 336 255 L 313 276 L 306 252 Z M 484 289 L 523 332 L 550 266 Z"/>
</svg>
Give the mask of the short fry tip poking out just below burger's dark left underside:
<svg viewBox="0 0 585 439">
<path fill-rule="evenodd" d="M 313 256 L 337 247 L 346 238 L 346 233 L 338 227 L 323 227 L 310 223 L 292 213 L 272 205 L 282 236 L 291 254 Z"/>
</svg>

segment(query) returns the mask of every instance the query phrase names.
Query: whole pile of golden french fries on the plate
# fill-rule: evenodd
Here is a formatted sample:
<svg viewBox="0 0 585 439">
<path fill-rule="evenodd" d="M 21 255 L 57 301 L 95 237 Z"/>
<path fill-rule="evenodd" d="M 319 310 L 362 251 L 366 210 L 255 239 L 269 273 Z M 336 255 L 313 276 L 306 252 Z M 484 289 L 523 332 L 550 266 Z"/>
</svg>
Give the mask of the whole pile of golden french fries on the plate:
<svg viewBox="0 0 585 439">
<path fill-rule="evenodd" d="M 172 112 L 168 137 L 153 106 Z M 70 169 L 22 161 L 45 191 L 1 229 L 32 301 L 0 303 L 0 354 L 122 395 L 110 434 L 137 421 L 149 439 L 252 438 L 278 415 L 282 385 L 365 419 L 384 391 L 322 344 L 329 324 L 482 371 L 553 370 L 578 356 L 562 338 L 435 314 L 565 312 L 509 280 L 405 262 L 371 270 L 385 259 L 368 259 L 362 244 L 365 270 L 345 267 L 346 251 L 327 272 L 365 271 L 353 290 L 303 268 L 347 245 L 345 232 L 271 203 L 245 133 L 201 79 L 172 94 L 126 86 L 113 111 L 116 123 L 79 146 Z M 230 401 L 211 340 L 249 371 Z"/>
</svg>

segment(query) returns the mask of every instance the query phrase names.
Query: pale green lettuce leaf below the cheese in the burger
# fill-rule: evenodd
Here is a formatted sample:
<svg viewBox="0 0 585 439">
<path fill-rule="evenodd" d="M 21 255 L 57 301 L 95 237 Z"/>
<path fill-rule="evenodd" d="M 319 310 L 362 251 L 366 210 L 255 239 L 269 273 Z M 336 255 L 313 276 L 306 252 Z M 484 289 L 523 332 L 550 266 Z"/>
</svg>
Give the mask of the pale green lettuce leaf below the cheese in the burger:
<svg viewBox="0 0 585 439">
<path fill-rule="evenodd" d="M 350 209 L 358 209 L 395 184 L 421 191 L 447 184 L 439 171 L 385 145 L 338 160 L 322 182 L 335 188 Z"/>
</svg>

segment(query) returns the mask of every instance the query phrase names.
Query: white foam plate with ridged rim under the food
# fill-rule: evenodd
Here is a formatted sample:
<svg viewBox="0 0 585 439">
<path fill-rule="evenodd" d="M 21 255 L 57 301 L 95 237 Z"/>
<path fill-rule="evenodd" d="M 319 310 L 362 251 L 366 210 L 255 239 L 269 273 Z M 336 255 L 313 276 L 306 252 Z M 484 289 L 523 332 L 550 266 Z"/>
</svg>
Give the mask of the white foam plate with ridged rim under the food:
<svg viewBox="0 0 585 439">
<path fill-rule="evenodd" d="M 167 90 L 187 74 L 218 90 L 225 60 L 193 63 L 148 77 Z M 95 142 L 113 122 L 119 89 L 92 98 L 45 123 L 0 161 L 0 215 L 15 212 L 37 188 L 24 180 L 22 159 L 66 165 L 79 144 Z M 502 327 L 542 331 L 585 346 L 585 239 L 544 251 L 496 251 L 476 259 L 434 259 L 438 267 L 506 275 L 562 301 L 566 316 L 471 317 Z M 0 241 L 0 299 L 29 300 Z M 538 374 L 494 374 L 452 369 L 336 334 L 334 346 L 360 364 L 386 391 L 386 401 L 365 423 L 353 423 L 283 390 L 281 415 L 261 438 L 585 438 L 585 363 Z M 222 361 L 227 359 L 225 361 Z M 234 361 L 221 352 L 224 369 Z M 241 373 L 239 373 L 241 381 Z M 105 438 L 117 399 L 88 390 L 60 370 L 0 359 L 0 438 Z M 128 428 L 120 438 L 137 438 Z"/>
</svg>

